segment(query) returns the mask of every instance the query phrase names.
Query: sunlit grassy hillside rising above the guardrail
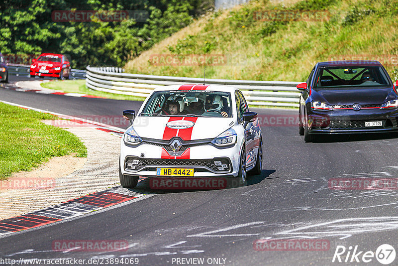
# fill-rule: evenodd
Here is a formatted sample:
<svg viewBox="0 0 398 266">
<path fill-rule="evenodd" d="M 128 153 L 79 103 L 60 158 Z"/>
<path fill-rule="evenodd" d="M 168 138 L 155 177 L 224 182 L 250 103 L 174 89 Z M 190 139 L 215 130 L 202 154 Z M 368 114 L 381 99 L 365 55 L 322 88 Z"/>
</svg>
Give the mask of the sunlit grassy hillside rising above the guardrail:
<svg viewBox="0 0 398 266">
<path fill-rule="evenodd" d="M 326 10 L 329 16 L 323 21 L 256 19 L 256 14 L 269 10 Z M 128 62 L 125 69 L 130 73 L 202 77 L 203 65 L 159 66 L 153 64 L 153 55 L 184 58 L 221 54 L 226 64 L 206 66 L 206 77 L 302 81 L 316 62 L 350 60 L 356 55 L 356 59 L 379 59 L 396 80 L 397 14 L 398 0 L 252 0 L 232 10 L 207 14 Z"/>
</svg>

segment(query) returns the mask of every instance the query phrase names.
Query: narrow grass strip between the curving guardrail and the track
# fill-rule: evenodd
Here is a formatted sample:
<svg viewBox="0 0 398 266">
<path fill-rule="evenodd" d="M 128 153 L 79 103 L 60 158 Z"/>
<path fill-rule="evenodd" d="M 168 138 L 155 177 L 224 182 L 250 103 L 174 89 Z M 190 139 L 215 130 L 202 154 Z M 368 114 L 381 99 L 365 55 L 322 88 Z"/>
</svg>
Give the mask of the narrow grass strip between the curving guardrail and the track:
<svg viewBox="0 0 398 266">
<path fill-rule="evenodd" d="M 82 93 L 115 100 L 144 101 L 144 97 L 120 95 L 107 92 L 95 91 L 86 87 L 86 80 L 55 80 L 41 83 L 43 88 L 59 90 L 69 93 Z"/>
</svg>

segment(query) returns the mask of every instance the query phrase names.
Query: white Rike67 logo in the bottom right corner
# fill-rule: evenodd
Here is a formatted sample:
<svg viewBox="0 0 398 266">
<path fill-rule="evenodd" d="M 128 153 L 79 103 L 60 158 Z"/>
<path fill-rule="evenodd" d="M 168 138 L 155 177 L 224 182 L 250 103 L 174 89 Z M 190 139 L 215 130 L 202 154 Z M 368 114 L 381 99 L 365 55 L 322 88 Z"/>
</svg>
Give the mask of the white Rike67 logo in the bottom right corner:
<svg viewBox="0 0 398 266">
<path fill-rule="evenodd" d="M 384 265 L 389 265 L 394 262 L 396 252 L 393 246 L 389 244 L 380 245 L 376 252 L 373 251 L 360 251 L 358 245 L 354 248 L 352 246 L 348 249 L 344 246 L 337 246 L 334 251 L 332 263 L 370 263 L 375 265 L 376 260 Z"/>
</svg>

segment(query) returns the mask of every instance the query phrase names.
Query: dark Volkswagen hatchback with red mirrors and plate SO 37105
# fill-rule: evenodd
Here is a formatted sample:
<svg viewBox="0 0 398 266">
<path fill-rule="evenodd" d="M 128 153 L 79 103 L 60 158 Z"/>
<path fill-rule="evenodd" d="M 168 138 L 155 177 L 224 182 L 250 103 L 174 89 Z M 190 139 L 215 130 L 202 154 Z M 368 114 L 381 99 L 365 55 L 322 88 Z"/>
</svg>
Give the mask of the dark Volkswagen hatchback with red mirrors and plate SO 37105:
<svg viewBox="0 0 398 266">
<path fill-rule="evenodd" d="M 396 85 L 397 86 L 397 85 Z M 299 134 L 398 131 L 398 94 L 378 61 L 317 63 L 299 100 Z"/>
</svg>

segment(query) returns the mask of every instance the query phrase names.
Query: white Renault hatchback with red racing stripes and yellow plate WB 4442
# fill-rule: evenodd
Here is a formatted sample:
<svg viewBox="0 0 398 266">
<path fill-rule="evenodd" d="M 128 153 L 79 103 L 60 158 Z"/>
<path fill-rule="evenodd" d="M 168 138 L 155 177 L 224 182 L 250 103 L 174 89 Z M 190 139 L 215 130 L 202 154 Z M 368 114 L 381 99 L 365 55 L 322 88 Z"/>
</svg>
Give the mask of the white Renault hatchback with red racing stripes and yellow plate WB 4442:
<svg viewBox="0 0 398 266">
<path fill-rule="evenodd" d="M 138 177 L 237 177 L 260 174 L 262 136 L 257 113 L 241 91 L 217 85 L 155 89 L 140 110 L 123 111 L 132 124 L 120 147 L 120 184 Z"/>
</svg>

